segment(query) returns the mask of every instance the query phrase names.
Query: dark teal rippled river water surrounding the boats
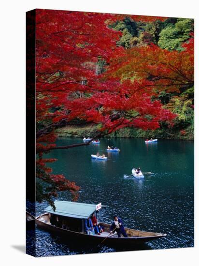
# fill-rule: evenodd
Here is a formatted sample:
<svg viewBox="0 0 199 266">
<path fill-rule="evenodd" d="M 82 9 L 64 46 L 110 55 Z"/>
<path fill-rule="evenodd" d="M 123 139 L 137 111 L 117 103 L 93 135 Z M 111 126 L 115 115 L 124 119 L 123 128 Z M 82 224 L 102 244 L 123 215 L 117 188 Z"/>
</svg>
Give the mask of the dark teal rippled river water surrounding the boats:
<svg viewBox="0 0 199 266">
<path fill-rule="evenodd" d="M 81 140 L 61 138 L 57 144 L 77 142 Z M 108 145 L 120 148 L 120 152 L 107 153 Z M 98 151 L 108 160 L 92 160 L 90 155 Z M 109 206 L 99 211 L 99 221 L 111 223 L 117 214 L 127 227 L 167 236 L 142 246 L 115 248 L 70 243 L 37 228 L 37 256 L 193 247 L 193 154 L 191 141 L 158 140 L 146 145 L 142 139 L 101 139 L 99 145 L 52 151 L 47 156 L 58 159 L 51 164 L 54 173 L 81 186 L 79 202 Z M 146 174 L 144 179 L 127 177 L 133 167 L 154 174 Z M 60 192 L 58 199 L 71 200 L 71 195 Z M 37 203 L 37 214 L 47 205 Z"/>
</svg>

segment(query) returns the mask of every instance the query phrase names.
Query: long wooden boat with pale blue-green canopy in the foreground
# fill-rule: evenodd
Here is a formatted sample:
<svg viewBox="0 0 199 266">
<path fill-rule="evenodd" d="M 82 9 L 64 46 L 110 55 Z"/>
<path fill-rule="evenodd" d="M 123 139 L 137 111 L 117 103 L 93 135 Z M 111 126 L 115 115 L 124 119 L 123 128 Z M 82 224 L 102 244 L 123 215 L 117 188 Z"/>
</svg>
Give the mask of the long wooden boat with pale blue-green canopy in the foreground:
<svg viewBox="0 0 199 266">
<path fill-rule="evenodd" d="M 123 237 L 121 235 L 121 237 L 118 238 L 117 234 L 110 236 L 111 225 L 104 222 L 98 222 L 99 225 L 104 227 L 104 232 L 102 232 L 100 236 L 97 234 L 87 235 L 84 232 L 84 221 L 95 212 L 97 218 L 98 211 L 102 207 L 101 203 L 98 205 L 93 205 L 76 202 L 55 201 L 55 206 L 55 211 L 53 211 L 52 207 L 47 207 L 45 209 L 47 212 L 36 218 L 36 224 L 38 227 L 41 227 L 44 230 L 59 234 L 60 236 L 69 239 L 70 242 L 75 242 L 78 240 L 82 241 L 82 243 L 88 241 L 91 244 L 95 243 L 129 246 L 166 236 L 166 234 L 125 228 L 128 237 Z M 53 216 L 54 220 L 52 220 Z"/>
</svg>

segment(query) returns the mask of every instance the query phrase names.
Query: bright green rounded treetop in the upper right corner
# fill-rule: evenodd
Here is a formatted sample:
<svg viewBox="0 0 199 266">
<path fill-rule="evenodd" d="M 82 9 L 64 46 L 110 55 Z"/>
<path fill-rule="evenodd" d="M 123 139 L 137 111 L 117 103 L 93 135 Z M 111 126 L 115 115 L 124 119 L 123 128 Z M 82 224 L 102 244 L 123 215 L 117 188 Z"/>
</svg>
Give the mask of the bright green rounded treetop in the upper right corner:
<svg viewBox="0 0 199 266">
<path fill-rule="evenodd" d="M 177 22 L 168 26 L 159 33 L 158 45 L 163 49 L 182 51 L 182 43 L 190 38 L 193 31 L 193 19 L 179 18 Z"/>
</svg>

